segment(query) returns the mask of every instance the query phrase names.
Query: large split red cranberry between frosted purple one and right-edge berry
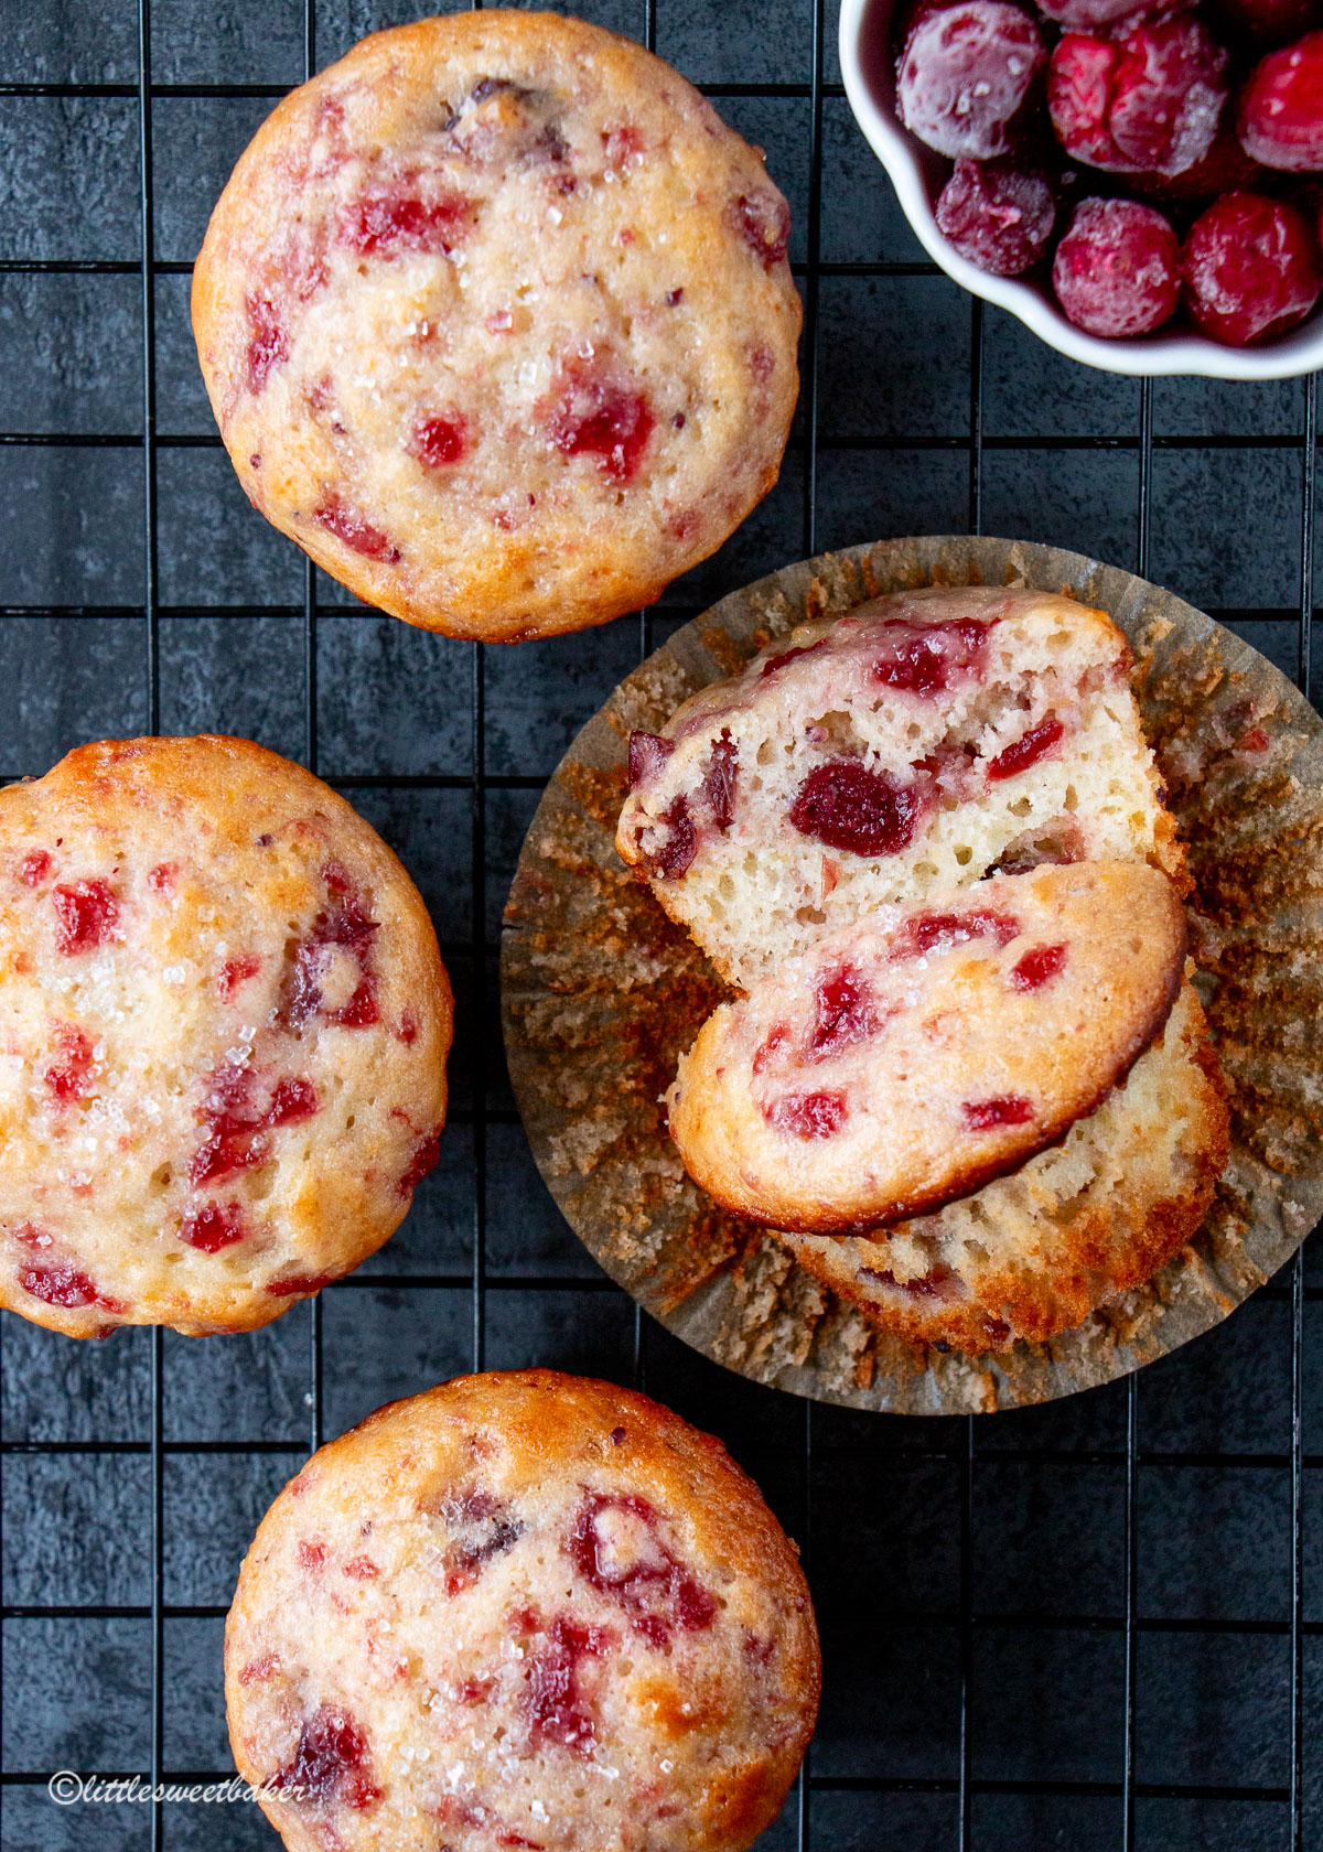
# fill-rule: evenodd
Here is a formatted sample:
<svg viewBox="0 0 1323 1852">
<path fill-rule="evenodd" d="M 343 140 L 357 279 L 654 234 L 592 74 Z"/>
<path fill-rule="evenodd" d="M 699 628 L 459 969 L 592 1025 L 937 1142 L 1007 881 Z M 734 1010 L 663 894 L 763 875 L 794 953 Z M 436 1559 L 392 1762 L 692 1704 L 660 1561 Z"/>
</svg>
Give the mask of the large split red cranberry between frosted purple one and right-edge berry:
<svg viewBox="0 0 1323 1852">
<path fill-rule="evenodd" d="M 1193 13 L 1145 19 L 1117 39 L 1065 33 L 1047 72 L 1056 139 L 1119 174 L 1180 174 L 1203 161 L 1227 102 L 1227 52 Z"/>
</svg>

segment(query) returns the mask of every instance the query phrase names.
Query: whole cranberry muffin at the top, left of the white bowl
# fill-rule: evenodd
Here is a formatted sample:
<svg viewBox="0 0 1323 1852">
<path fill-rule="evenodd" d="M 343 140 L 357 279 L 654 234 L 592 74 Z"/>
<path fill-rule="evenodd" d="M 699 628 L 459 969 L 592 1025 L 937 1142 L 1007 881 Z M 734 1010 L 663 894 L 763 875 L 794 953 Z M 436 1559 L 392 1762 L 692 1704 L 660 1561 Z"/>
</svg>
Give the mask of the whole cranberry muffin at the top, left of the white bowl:
<svg viewBox="0 0 1323 1852">
<path fill-rule="evenodd" d="M 776 480 L 789 211 L 641 46 L 419 20 L 289 94 L 193 272 L 252 504 L 337 580 L 513 643 L 649 604 Z"/>
</svg>

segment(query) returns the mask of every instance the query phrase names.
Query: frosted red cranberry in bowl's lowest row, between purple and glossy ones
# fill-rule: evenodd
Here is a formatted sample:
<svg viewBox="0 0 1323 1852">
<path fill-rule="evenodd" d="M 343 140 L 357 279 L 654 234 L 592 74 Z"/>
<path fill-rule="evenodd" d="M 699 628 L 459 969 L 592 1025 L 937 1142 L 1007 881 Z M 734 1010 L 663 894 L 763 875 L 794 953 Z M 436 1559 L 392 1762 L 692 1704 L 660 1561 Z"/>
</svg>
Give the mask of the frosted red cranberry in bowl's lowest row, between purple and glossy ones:
<svg viewBox="0 0 1323 1852">
<path fill-rule="evenodd" d="M 1052 289 L 1086 333 L 1147 335 L 1180 300 L 1177 233 L 1154 206 L 1080 200 L 1056 246 Z"/>
</svg>

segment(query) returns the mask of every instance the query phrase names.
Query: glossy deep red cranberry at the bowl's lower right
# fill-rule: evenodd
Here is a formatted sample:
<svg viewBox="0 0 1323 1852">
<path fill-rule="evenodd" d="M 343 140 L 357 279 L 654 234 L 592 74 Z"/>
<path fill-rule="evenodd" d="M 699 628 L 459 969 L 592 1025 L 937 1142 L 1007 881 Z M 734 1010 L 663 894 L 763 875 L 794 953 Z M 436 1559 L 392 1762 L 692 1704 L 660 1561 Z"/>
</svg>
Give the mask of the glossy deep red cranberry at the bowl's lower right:
<svg viewBox="0 0 1323 1852">
<path fill-rule="evenodd" d="M 1295 328 L 1323 289 L 1323 263 L 1308 220 L 1262 193 L 1228 193 L 1195 219 L 1182 270 L 1190 317 L 1228 346 L 1249 346 Z"/>
</svg>

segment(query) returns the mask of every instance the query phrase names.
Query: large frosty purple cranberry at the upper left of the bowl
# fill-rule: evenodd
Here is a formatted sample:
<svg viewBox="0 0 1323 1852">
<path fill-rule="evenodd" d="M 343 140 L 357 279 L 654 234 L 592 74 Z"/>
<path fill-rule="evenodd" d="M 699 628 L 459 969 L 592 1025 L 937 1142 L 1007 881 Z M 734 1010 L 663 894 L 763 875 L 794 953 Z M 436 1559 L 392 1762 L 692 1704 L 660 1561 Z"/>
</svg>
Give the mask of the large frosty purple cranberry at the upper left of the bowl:
<svg viewBox="0 0 1323 1852">
<path fill-rule="evenodd" d="M 897 113 L 952 159 L 1006 154 L 1045 57 L 1038 26 L 1008 0 L 925 7 L 897 63 Z"/>
</svg>

